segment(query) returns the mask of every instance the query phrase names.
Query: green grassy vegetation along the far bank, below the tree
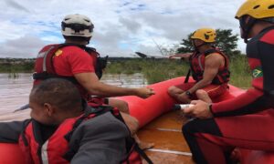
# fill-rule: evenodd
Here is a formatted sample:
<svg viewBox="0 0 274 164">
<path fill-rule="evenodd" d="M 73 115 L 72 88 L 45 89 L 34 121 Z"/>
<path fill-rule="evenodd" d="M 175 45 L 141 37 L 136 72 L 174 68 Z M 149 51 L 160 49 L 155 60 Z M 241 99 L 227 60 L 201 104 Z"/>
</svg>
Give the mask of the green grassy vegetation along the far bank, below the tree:
<svg viewBox="0 0 274 164">
<path fill-rule="evenodd" d="M 160 82 L 174 77 L 186 76 L 188 62 L 180 59 L 158 58 L 115 58 L 105 70 L 108 74 L 142 73 L 149 84 Z M 1 64 L 0 73 L 8 73 L 9 77 L 18 77 L 17 73 L 33 72 L 34 62 Z M 237 56 L 230 59 L 230 84 L 237 87 L 250 87 L 251 74 L 246 56 Z"/>
</svg>

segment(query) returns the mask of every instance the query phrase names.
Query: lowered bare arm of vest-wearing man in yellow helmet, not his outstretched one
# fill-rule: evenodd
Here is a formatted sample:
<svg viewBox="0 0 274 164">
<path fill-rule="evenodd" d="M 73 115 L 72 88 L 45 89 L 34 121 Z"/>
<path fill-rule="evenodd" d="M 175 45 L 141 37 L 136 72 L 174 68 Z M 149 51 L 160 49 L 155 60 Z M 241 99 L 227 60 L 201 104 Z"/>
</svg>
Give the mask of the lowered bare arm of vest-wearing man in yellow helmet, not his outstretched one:
<svg viewBox="0 0 274 164">
<path fill-rule="evenodd" d="M 190 88 L 189 92 L 195 93 L 197 89 L 210 85 L 214 77 L 216 77 L 219 67 L 224 65 L 224 61 L 224 57 L 219 55 L 212 54 L 205 57 L 205 71 L 203 79 L 197 82 L 194 87 Z"/>
</svg>

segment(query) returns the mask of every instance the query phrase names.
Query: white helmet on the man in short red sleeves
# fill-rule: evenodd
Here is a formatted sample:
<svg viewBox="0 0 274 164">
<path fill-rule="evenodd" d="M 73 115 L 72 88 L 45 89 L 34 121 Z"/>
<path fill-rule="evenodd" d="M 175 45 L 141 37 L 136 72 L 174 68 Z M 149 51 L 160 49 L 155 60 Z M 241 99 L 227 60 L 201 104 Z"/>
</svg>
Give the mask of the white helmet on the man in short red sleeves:
<svg viewBox="0 0 274 164">
<path fill-rule="evenodd" d="M 62 21 L 63 36 L 91 37 L 93 24 L 86 15 L 67 15 Z"/>
</svg>

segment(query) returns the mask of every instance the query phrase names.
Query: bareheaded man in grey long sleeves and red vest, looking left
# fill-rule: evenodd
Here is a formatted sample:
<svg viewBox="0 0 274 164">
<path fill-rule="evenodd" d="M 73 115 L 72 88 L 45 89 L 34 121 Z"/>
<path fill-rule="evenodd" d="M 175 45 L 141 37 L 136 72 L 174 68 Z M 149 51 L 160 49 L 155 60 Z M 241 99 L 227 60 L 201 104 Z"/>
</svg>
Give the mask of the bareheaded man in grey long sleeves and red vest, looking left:
<svg viewBox="0 0 274 164">
<path fill-rule="evenodd" d="M 126 157 L 126 126 L 111 112 L 83 107 L 68 80 L 50 78 L 34 87 L 29 106 L 31 119 L 0 123 L 0 141 L 18 142 L 27 163 L 116 164 Z"/>
</svg>

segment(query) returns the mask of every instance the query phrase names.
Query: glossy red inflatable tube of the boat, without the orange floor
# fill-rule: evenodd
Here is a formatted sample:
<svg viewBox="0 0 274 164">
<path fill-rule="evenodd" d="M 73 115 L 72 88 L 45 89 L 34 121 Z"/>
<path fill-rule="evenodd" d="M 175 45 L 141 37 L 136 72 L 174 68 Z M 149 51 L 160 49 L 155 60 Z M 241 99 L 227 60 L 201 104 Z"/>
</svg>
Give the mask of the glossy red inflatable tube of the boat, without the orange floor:
<svg viewBox="0 0 274 164">
<path fill-rule="evenodd" d="M 175 101 L 172 97 L 168 96 L 167 89 L 168 87 L 179 85 L 183 82 L 184 77 L 177 77 L 150 85 L 148 87 L 154 89 L 155 95 L 146 99 L 132 96 L 117 98 L 128 102 L 131 115 L 137 118 L 140 122 L 140 126 L 143 127 L 147 123 L 151 122 L 154 118 L 158 118 L 159 116 L 171 110 Z M 217 97 L 213 101 L 219 102 L 229 98 L 237 97 L 243 92 L 244 90 L 238 87 L 229 86 L 227 93 L 221 97 Z M 269 155 L 269 153 L 251 150 L 241 151 L 243 152 L 241 155 L 241 160 L 243 163 L 248 163 L 250 160 L 258 160 L 258 163 L 274 163 L 274 155 Z M 25 164 L 23 154 L 17 144 L 0 143 L 0 163 Z"/>
</svg>

